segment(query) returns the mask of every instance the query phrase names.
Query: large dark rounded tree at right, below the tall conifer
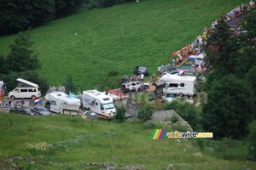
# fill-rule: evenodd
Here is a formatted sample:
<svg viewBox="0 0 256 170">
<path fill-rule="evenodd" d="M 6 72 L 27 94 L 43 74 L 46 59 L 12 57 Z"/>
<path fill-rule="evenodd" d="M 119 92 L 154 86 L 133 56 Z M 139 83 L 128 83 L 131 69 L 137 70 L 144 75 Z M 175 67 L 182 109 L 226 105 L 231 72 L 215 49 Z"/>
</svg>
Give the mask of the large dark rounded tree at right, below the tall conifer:
<svg viewBox="0 0 256 170">
<path fill-rule="evenodd" d="M 215 139 L 239 139 L 247 135 L 247 125 L 253 120 L 252 99 L 250 88 L 234 75 L 213 81 L 208 102 L 202 108 L 202 126 Z"/>
</svg>

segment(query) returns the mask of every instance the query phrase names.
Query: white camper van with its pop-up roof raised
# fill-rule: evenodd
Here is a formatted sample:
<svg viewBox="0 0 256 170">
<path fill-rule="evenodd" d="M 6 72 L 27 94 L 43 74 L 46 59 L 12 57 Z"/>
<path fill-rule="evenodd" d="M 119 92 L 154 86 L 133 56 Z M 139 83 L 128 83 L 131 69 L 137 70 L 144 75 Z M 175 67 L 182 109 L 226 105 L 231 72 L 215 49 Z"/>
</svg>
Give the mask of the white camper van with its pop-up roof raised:
<svg viewBox="0 0 256 170">
<path fill-rule="evenodd" d="M 39 98 L 41 96 L 41 90 L 38 84 L 26 81 L 22 78 L 17 78 L 18 87 L 9 92 L 8 97 L 11 99 L 15 98 Z"/>
</svg>

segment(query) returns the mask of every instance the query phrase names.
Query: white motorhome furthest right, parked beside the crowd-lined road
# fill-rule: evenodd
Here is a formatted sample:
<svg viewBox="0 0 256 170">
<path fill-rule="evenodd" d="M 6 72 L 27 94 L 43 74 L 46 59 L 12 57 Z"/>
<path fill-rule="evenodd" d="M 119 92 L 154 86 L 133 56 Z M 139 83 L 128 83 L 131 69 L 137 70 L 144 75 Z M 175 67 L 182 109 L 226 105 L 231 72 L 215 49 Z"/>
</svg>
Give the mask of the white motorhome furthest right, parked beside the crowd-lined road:
<svg viewBox="0 0 256 170">
<path fill-rule="evenodd" d="M 160 77 L 164 94 L 194 95 L 196 93 L 196 77 L 178 77 L 165 75 Z"/>
</svg>

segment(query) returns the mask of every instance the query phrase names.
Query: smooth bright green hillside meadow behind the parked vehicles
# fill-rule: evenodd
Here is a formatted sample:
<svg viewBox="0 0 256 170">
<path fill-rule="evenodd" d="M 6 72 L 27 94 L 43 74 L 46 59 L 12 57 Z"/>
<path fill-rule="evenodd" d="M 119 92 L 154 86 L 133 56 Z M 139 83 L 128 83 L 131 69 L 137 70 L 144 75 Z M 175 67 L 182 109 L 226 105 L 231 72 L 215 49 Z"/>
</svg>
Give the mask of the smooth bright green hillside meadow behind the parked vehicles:
<svg viewBox="0 0 256 170">
<path fill-rule="evenodd" d="M 143 0 L 81 11 L 33 29 L 32 48 L 43 65 L 40 74 L 50 85 L 61 84 L 71 74 L 78 90 L 106 86 L 132 74 L 136 65 L 156 72 L 170 54 L 194 42 L 213 20 L 241 3 L 248 1 Z M 0 53 L 9 54 L 15 36 L 0 38 Z M 119 75 L 108 80 L 109 71 Z"/>
</svg>

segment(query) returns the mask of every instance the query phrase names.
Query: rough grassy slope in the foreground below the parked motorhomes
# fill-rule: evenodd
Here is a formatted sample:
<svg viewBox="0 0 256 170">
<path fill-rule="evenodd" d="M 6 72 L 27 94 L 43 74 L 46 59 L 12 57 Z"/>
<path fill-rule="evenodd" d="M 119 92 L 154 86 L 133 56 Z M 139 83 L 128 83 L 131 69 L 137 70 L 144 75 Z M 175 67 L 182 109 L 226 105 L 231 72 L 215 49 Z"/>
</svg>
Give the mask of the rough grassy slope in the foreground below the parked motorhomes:
<svg viewBox="0 0 256 170">
<path fill-rule="evenodd" d="M 144 165 L 149 170 L 163 169 L 170 164 L 172 169 L 256 167 L 255 162 L 245 161 L 244 156 L 240 161 L 212 156 L 212 148 L 201 150 L 196 139 L 150 139 L 153 128 L 145 128 L 139 121 L 108 123 L 84 120 L 80 116 L 9 113 L 0 116 L 0 156 L 26 169 L 86 169 L 88 163 L 107 161 L 118 167 Z M 157 128 L 166 128 L 168 132 L 177 130 L 164 125 Z M 245 144 L 240 144 L 238 149 L 231 144 L 218 148 L 226 150 L 226 159 L 239 157 L 246 150 Z"/>
</svg>

